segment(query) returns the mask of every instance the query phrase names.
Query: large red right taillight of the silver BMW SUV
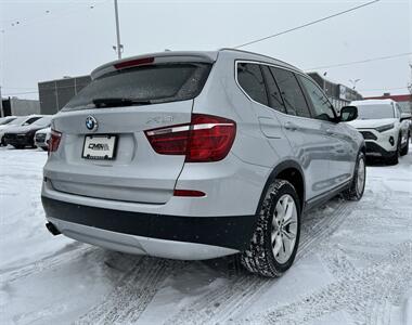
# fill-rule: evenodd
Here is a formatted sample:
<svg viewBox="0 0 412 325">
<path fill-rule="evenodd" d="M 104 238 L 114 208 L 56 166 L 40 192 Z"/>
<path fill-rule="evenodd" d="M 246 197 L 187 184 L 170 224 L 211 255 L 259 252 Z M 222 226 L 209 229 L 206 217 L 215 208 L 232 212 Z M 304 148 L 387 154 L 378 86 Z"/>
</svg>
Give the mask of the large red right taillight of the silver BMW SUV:
<svg viewBox="0 0 412 325">
<path fill-rule="evenodd" d="M 236 135 L 233 120 L 193 114 L 188 125 L 145 131 L 153 150 L 160 155 L 185 155 L 186 162 L 207 162 L 223 159 Z"/>
</svg>

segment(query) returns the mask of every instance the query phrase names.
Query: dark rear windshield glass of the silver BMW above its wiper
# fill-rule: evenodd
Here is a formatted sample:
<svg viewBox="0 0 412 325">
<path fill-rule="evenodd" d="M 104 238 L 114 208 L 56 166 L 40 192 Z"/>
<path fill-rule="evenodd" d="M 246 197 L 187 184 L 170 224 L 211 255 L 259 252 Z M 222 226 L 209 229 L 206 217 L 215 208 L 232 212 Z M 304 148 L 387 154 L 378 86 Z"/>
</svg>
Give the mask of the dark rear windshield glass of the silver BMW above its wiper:
<svg viewBox="0 0 412 325">
<path fill-rule="evenodd" d="M 145 104 L 191 100 L 202 91 L 210 68 L 210 64 L 178 63 L 113 72 L 90 82 L 63 110 L 94 108 L 93 101 L 104 99 Z"/>
</svg>

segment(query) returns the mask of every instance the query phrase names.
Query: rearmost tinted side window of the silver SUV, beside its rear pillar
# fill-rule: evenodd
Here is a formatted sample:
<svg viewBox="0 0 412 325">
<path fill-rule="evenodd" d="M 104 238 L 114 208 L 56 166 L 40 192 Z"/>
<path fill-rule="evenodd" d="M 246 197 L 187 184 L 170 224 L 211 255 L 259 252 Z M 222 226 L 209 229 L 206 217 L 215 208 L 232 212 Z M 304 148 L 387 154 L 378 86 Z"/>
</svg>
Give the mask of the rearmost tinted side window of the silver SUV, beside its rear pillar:
<svg viewBox="0 0 412 325">
<path fill-rule="evenodd" d="M 253 63 L 237 64 L 237 82 L 254 101 L 268 105 L 263 77 L 259 65 Z"/>
</svg>

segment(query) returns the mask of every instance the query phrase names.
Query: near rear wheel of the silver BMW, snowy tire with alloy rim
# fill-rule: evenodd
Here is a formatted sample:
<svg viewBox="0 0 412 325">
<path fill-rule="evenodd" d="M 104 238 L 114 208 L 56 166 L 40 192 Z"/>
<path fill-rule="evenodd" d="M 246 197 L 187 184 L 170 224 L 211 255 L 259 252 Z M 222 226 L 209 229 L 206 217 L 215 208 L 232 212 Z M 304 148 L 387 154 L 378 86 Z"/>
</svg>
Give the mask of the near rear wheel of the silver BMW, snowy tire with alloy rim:
<svg viewBox="0 0 412 325">
<path fill-rule="evenodd" d="M 241 256 L 243 266 L 267 277 L 281 276 L 289 269 L 299 245 L 300 213 L 295 187 L 287 181 L 274 180 L 259 205 L 256 230 Z M 289 216 L 286 221 L 282 217 L 285 214 Z"/>
</svg>

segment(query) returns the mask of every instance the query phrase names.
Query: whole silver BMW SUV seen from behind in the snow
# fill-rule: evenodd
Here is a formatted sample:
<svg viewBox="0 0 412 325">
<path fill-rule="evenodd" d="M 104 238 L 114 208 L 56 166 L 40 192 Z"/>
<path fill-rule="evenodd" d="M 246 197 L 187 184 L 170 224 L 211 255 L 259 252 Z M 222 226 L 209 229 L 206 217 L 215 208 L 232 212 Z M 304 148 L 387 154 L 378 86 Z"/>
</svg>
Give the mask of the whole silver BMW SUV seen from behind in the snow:
<svg viewBox="0 0 412 325">
<path fill-rule="evenodd" d="M 111 62 L 53 119 L 47 227 L 108 249 L 241 256 L 280 276 L 301 216 L 360 199 L 364 141 L 301 70 L 249 52 L 164 52 Z"/>
</svg>

